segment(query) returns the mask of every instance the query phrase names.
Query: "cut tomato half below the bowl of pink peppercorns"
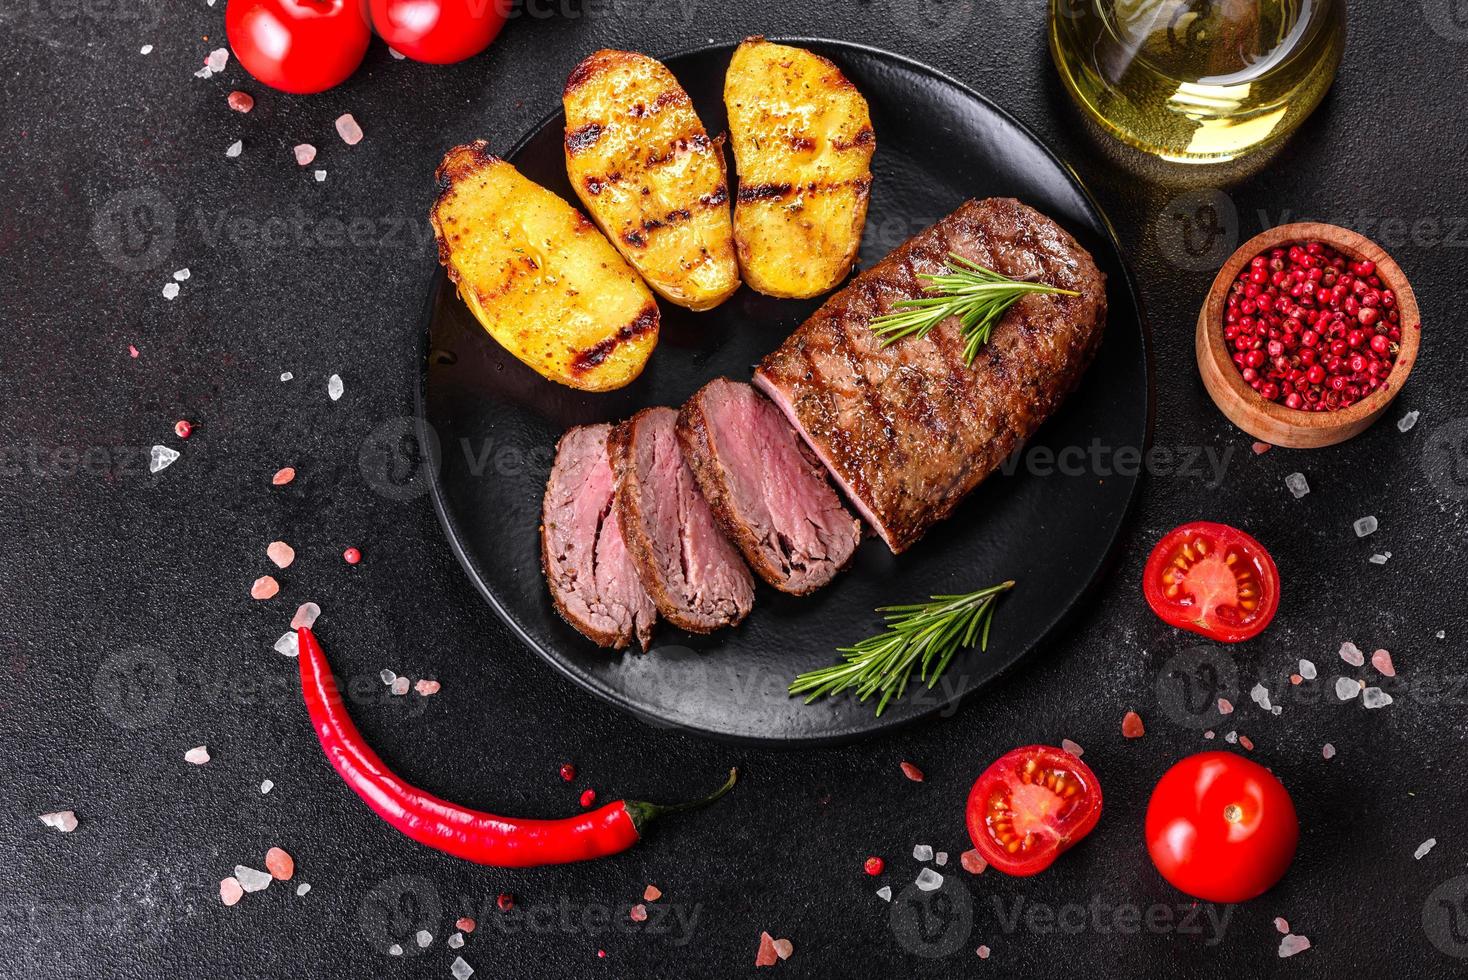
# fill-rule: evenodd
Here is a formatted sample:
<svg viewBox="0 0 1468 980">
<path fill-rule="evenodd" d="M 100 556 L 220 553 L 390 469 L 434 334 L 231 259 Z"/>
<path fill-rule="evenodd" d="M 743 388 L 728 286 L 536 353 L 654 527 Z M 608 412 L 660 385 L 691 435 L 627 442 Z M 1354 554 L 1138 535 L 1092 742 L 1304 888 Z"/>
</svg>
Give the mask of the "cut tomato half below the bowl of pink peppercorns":
<svg viewBox="0 0 1468 980">
<path fill-rule="evenodd" d="M 1142 594 L 1167 624 L 1221 643 L 1260 635 L 1280 606 L 1280 572 L 1264 546 L 1238 528 L 1193 521 L 1169 533 L 1147 559 Z"/>
</svg>

